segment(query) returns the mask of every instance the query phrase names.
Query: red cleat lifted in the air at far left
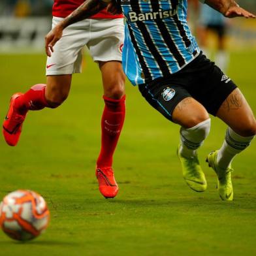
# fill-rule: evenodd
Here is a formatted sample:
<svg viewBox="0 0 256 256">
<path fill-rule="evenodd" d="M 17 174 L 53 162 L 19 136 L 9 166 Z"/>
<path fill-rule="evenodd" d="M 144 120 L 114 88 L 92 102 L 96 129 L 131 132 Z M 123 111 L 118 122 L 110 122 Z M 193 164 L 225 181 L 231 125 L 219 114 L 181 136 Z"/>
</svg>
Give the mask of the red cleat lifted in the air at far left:
<svg viewBox="0 0 256 256">
<path fill-rule="evenodd" d="M 7 116 L 3 122 L 3 136 L 5 141 L 10 146 L 16 146 L 22 132 L 22 123 L 25 120 L 26 114 L 19 114 L 14 107 L 15 100 L 20 97 L 22 93 L 15 93 L 10 98 L 10 106 L 8 109 Z"/>
</svg>

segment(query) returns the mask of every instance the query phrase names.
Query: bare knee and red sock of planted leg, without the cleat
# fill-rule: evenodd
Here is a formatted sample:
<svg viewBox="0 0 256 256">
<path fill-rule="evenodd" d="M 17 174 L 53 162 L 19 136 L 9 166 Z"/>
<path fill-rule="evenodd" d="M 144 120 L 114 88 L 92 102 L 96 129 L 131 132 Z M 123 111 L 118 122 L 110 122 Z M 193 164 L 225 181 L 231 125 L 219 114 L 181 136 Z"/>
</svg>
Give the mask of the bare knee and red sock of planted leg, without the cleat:
<svg viewBox="0 0 256 256">
<path fill-rule="evenodd" d="M 125 120 L 125 76 L 119 61 L 100 63 L 104 88 L 101 153 L 97 168 L 112 167 L 114 150 Z"/>
</svg>

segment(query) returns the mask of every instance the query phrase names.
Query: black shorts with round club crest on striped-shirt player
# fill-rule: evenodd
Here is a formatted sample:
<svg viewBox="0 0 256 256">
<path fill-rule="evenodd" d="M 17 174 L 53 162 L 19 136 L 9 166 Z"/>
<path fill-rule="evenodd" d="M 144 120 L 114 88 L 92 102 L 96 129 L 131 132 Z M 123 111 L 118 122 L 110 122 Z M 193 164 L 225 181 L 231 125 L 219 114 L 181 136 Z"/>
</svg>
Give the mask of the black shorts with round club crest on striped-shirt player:
<svg viewBox="0 0 256 256">
<path fill-rule="evenodd" d="M 138 88 L 148 103 L 172 121 L 174 108 L 187 97 L 193 97 L 208 113 L 216 116 L 236 85 L 201 53 L 181 71 L 149 84 L 140 84 Z"/>
</svg>

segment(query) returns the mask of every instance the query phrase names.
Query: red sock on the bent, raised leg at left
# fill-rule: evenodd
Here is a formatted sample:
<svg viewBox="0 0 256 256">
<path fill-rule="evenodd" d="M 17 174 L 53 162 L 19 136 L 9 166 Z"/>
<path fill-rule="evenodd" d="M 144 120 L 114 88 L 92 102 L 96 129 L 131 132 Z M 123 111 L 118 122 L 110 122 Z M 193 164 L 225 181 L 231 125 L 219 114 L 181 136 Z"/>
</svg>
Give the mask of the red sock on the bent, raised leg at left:
<svg viewBox="0 0 256 256">
<path fill-rule="evenodd" d="M 48 105 L 45 99 L 45 88 L 45 84 L 32 86 L 24 95 L 16 99 L 15 107 L 21 114 L 25 114 L 27 110 L 41 110 Z"/>
</svg>

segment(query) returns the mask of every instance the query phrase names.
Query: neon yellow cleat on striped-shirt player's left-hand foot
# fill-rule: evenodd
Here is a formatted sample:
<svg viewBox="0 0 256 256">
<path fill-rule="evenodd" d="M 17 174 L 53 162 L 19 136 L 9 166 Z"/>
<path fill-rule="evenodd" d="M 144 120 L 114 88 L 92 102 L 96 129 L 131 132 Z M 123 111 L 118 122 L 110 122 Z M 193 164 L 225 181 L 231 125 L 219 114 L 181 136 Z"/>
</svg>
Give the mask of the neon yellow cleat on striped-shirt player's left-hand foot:
<svg viewBox="0 0 256 256">
<path fill-rule="evenodd" d="M 207 188 L 206 178 L 199 164 L 197 156 L 186 158 L 180 154 L 180 144 L 178 146 L 177 155 L 182 163 L 183 178 L 187 185 L 197 192 L 204 192 Z"/>
</svg>

